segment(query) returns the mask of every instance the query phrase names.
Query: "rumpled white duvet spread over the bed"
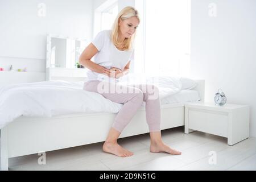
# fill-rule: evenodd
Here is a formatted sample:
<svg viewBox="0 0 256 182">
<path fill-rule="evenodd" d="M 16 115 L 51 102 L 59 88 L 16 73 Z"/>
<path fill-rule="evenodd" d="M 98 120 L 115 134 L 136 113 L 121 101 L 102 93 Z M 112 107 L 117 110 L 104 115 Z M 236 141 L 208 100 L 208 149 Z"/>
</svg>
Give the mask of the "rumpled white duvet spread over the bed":
<svg viewBox="0 0 256 182">
<path fill-rule="evenodd" d="M 158 86 L 160 99 L 181 89 L 178 78 L 155 78 L 147 78 L 147 81 Z M 101 94 L 82 90 L 83 84 L 43 81 L 0 88 L 0 129 L 22 115 L 52 117 L 71 113 L 118 113 L 121 109 L 122 104 L 112 102 Z"/>
</svg>

